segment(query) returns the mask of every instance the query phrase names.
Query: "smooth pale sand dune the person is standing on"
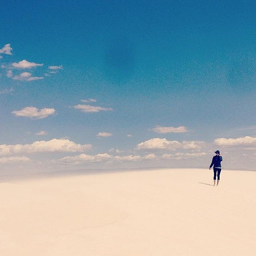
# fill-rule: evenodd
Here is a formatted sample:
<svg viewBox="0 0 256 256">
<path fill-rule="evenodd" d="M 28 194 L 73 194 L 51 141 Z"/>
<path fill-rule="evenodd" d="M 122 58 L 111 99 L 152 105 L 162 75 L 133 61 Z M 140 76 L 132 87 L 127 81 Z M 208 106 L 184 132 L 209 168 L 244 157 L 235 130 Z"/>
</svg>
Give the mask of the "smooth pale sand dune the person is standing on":
<svg viewBox="0 0 256 256">
<path fill-rule="evenodd" d="M 0 183 L 3 256 L 246 256 L 256 172 L 160 169 Z"/>
</svg>

